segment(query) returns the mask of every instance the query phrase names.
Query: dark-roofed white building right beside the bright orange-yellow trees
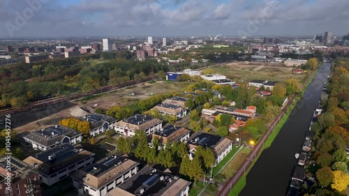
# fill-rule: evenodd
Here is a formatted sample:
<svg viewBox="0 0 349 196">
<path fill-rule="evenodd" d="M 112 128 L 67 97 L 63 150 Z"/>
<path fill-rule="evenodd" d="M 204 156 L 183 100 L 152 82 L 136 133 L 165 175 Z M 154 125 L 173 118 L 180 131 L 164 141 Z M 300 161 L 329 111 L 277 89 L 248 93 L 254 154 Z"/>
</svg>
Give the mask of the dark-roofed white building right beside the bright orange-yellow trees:
<svg viewBox="0 0 349 196">
<path fill-rule="evenodd" d="M 89 135 L 91 137 L 95 137 L 101 133 L 104 133 L 106 130 L 110 130 L 114 128 L 114 123 L 119 121 L 112 116 L 107 116 L 103 114 L 89 114 L 87 116 L 83 116 L 82 120 L 89 121 L 91 125 L 91 130 L 89 131 Z"/>
</svg>

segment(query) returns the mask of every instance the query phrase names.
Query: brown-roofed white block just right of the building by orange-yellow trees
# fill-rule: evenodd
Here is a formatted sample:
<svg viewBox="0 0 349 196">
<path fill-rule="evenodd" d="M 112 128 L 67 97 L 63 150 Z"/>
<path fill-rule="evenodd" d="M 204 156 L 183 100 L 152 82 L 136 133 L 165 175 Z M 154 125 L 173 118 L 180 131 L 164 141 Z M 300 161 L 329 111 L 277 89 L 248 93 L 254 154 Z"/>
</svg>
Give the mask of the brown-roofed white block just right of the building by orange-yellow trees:
<svg viewBox="0 0 349 196">
<path fill-rule="evenodd" d="M 133 137 L 136 130 L 141 130 L 150 135 L 163 127 L 163 121 L 151 116 L 136 114 L 114 124 L 117 133 Z"/>
</svg>

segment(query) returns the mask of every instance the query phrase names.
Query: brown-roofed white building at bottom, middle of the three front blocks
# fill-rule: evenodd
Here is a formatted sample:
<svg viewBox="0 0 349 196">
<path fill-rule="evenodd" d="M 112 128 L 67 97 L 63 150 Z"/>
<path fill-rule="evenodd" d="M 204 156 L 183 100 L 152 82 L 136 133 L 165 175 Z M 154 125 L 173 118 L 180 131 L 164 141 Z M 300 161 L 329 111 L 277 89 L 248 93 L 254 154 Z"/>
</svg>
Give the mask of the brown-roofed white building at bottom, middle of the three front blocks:
<svg viewBox="0 0 349 196">
<path fill-rule="evenodd" d="M 73 174 L 79 195 L 104 196 L 138 172 L 138 165 L 122 156 L 108 156 Z"/>
</svg>

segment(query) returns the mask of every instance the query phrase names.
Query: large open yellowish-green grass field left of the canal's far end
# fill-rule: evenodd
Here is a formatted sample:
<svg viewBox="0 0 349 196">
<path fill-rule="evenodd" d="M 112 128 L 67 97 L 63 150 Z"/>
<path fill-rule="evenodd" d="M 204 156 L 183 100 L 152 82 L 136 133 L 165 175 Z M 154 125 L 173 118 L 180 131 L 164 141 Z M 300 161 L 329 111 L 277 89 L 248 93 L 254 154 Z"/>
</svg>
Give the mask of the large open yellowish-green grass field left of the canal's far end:
<svg viewBox="0 0 349 196">
<path fill-rule="evenodd" d="M 292 74 L 292 67 L 283 67 L 277 63 L 228 63 L 212 67 L 216 73 L 225 75 L 229 79 L 239 80 L 268 80 L 283 82 L 288 78 L 296 78 L 299 82 L 304 74 Z"/>
</svg>

